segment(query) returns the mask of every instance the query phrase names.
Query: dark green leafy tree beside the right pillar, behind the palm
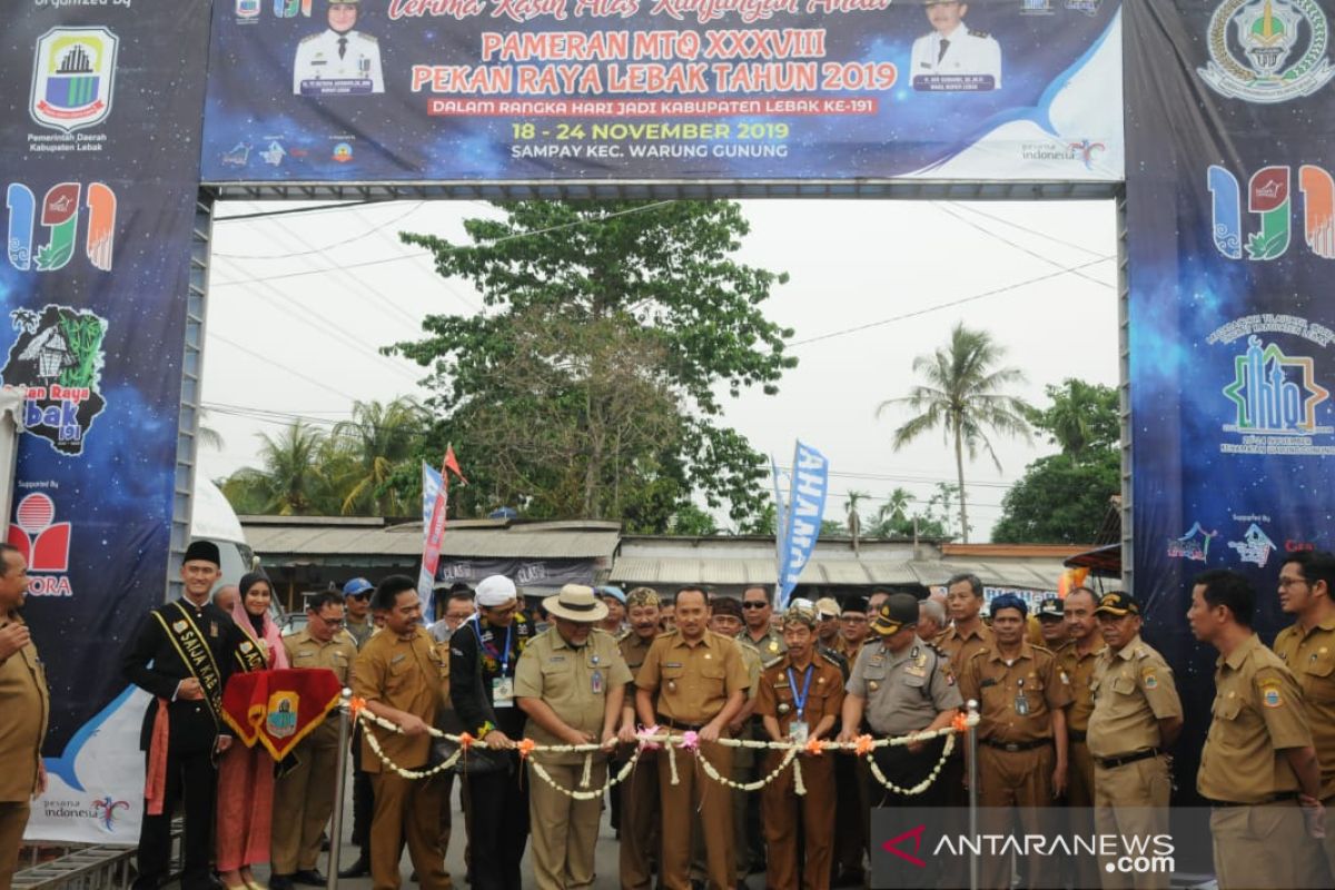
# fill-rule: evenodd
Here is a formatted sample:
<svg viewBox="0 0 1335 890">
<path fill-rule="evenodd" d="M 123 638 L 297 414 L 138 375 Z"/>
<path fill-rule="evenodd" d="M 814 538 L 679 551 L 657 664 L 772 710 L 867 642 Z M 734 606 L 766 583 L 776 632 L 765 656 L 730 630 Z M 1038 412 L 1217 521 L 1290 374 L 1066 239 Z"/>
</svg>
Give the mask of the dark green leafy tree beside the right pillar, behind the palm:
<svg viewBox="0 0 1335 890">
<path fill-rule="evenodd" d="M 1117 391 L 1068 379 L 1047 394 L 1051 404 L 1031 416 L 1061 452 L 1031 463 L 1007 491 L 993 540 L 1089 543 L 1120 490 Z"/>
</svg>

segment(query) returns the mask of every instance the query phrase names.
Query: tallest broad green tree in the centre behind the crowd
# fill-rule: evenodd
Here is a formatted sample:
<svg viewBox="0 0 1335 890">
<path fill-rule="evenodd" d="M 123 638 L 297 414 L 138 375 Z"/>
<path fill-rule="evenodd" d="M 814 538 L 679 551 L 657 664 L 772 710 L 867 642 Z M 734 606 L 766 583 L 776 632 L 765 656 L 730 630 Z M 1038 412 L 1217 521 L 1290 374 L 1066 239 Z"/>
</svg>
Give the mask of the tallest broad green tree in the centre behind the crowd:
<svg viewBox="0 0 1335 890">
<path fill-rule="evenodd" d="M 483 311 L 431 315 L 390 347 L 423 366 L 437 424 L 470 486 L 465 515 L 700 527 L 702 502 L 741 530 L 764 515 L 764 458 L 721 423 L 722 394 L 776 391 L 796 359 L 764 304 L 786 278 L 736 260 L 733 201 L 521 201 L 470 219 L 467 242 L 421 234 Z"/>
</svg>

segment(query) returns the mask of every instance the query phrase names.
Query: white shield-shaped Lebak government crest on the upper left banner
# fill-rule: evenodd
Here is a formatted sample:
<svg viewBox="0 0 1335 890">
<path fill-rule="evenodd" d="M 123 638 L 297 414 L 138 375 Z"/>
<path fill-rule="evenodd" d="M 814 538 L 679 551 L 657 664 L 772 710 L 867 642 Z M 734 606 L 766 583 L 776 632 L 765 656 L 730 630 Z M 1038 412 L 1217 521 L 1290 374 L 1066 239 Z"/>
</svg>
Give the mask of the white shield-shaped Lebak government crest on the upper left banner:
<svg viewBox="0 0 1335 890">
<path fill-rule="evenodd" d="M 120 40 L 107 28 L 52 28 L 37 39 L 28 112 L 72 133 L 111 113 Z"/>
</svg>

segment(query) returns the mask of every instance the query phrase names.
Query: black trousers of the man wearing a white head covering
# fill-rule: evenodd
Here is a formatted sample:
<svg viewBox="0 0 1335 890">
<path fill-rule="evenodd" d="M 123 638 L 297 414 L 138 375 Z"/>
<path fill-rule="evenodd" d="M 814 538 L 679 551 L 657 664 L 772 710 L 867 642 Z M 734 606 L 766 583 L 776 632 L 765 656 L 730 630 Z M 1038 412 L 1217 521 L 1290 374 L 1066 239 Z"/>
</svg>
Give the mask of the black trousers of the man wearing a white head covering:
<svg viewBox="0 0 1335 890">
<path fill-rule="evenodd" d="M 522 890 L 519 859 L 529 843 L 529 789 L 521 782 L 519 755 L 509 774 L 481 773 L 465 781 L 473 810 L 470 847 L 473 890 Z"/>
</svg>

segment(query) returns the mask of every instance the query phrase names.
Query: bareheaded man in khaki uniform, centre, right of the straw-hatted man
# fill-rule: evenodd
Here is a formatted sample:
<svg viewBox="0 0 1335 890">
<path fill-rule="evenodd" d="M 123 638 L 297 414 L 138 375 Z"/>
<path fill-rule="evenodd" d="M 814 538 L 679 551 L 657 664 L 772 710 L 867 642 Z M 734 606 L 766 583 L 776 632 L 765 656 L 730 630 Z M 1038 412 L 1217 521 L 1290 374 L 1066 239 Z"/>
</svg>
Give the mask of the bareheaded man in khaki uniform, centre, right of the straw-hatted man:
<svg viewBox="0 0 1335 890">
<path fill-rule="evenodd" d="M 709 758 L 720 775 L 732 773 L 732 749 L 718 745 L 746 701 L 748 677 L 737 642 L 706 628 L 709 600 L 704 590 L 677 592 L 677 628 L 654 640 L 635 678 L 635 711 L 645 726 L 673 735 L 698 734 L 700 757 Z M 729 789 L 710 781 L 678 750 L 680 783 L 672 783 L 668 753 L 658 758 L 658 794 L 662 801 L 661 881 L 668 890 L 688 890 L 690 826 L 700 821 L 705 833 L 710 890 L 732 890 L 733 810 Z"/>
</svg>

